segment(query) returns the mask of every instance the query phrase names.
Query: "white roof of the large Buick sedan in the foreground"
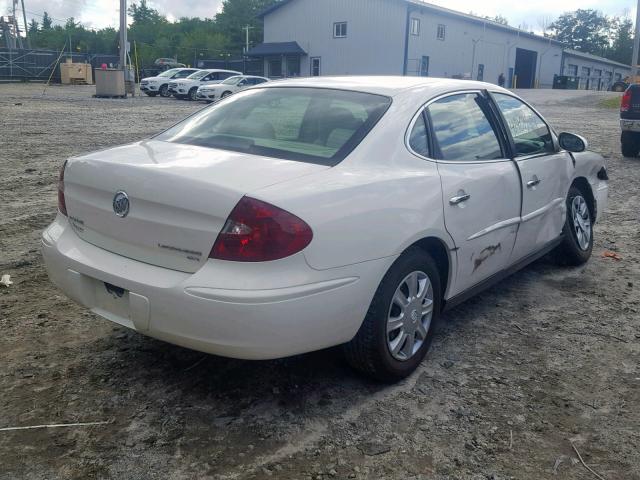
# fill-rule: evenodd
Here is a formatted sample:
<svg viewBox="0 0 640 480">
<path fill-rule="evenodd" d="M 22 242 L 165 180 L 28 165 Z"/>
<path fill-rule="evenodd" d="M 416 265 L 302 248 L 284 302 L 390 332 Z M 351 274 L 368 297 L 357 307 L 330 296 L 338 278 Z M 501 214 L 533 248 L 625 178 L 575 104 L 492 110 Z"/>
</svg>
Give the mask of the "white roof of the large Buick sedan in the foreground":
<svg viewBox="0 0 640 480">
<path fill-rule="evenodd" d="M 455 80 L 451 78 L 432 77 L 400 77 L 400 76 L 348 76 L 348 77 L 313 77 L 294 78 L 269 82 L 264 88 L 278 87 L 311 87 L 330 88 L 336 90 L 352 90 L 377 95 L 394 97 L 412 90 L 429 91 L 435 95 L 455 90 L 505 91 L 491 83 L 472 80 Z"/>
</svg>

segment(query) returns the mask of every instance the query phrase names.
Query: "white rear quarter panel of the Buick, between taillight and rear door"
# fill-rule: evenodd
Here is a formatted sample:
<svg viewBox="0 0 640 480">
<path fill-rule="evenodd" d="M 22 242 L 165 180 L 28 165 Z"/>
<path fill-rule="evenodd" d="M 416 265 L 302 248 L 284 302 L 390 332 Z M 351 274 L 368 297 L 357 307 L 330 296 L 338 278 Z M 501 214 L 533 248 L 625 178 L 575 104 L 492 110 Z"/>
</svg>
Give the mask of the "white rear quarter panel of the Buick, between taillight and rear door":
<svg viewBox="0 0 640 480">
<path fill-rule="evenodd" d="M 437 166 L 404 143 L 420 105 L 397 103 L 339 165 L 250 194 L 311 226 L 313 241 L 304 253 L 312 268 L 398 255 L 424 237 L 454 248 L 444 229 Z"/>
</svg>

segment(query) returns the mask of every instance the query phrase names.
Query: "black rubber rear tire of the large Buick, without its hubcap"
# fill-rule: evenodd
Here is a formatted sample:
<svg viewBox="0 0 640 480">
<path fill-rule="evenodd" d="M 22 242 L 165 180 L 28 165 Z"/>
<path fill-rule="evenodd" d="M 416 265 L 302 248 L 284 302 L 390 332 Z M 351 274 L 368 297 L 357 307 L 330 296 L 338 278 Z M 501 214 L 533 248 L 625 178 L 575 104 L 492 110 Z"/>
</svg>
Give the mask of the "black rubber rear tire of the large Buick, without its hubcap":
<svg viewBox="0 0 640 480">
<path fill-rule="evenodd" d="M 426 338 L 408 360 L 394 358 L 388 346 L 387 319 L 392 299 L 403 279 L 414 271 L 424 272 L 433 288 L 433 315 Z M 373 297 L 367 315 L 356 336 L 343 346 L 349 364 L 383 382 L 394 382 L 410 375 L 422 362 L 433 339 L 442 304 L 440 274 L 431 256 L 420 248 L 407 250 L 386 273 Z"/>
</svg>

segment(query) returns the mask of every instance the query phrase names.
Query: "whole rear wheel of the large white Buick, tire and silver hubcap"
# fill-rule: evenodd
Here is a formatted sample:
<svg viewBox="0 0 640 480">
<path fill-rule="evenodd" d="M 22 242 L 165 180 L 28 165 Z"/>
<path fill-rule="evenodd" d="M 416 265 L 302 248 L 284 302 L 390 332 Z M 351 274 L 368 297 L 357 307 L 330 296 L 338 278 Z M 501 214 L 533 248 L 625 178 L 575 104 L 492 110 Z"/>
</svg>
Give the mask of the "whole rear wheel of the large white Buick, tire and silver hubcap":
<svg viewBox="0 0 640 480">
<path fill-rule="evenodd" d="M 440 291 L 431 256 L 419 248 L 407 250 L 382 279 L 360 330 L 344 346 L 347 361 L 384 382 L 411 374 L 431 344 Z"/>
</svg>

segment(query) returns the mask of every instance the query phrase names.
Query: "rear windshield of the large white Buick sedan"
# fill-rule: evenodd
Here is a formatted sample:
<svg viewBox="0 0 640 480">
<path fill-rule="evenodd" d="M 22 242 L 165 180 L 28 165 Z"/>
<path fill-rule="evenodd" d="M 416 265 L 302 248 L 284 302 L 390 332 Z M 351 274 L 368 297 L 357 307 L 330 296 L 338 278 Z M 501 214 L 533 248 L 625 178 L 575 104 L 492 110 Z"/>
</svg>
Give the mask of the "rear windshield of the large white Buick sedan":
<svg viewBox="0 0 640 480">
<path fill-rule="evenodd" d="M 391 105 L 381 95 L 319 88 L 245 90 L 156 140 L 336 165 Z"/>
</svg>

